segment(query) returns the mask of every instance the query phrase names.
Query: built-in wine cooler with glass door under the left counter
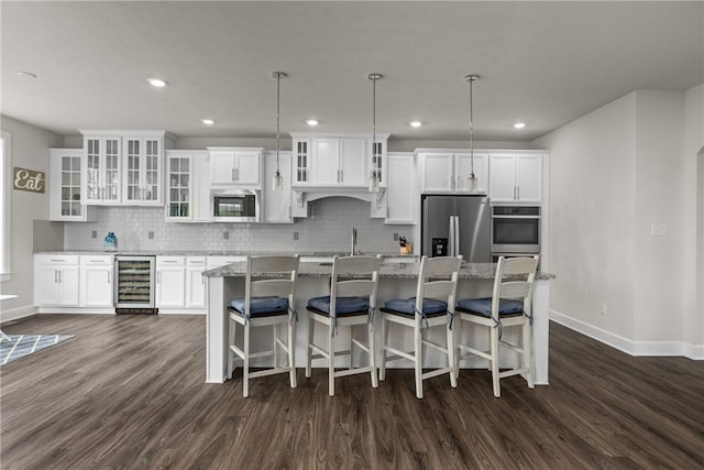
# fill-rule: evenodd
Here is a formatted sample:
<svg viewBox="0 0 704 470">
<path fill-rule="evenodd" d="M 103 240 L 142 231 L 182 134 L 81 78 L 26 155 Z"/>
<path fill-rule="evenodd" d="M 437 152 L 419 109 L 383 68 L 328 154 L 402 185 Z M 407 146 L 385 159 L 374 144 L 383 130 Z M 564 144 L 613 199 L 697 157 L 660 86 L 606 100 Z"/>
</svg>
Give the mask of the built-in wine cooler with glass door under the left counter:
<svg viewBox="0 0 704 470">
<path fill-rule="evenodd" d="M 156 314 L 154 307 L 155 256 L 114 256 L 117 314 Z"/>
</svg>

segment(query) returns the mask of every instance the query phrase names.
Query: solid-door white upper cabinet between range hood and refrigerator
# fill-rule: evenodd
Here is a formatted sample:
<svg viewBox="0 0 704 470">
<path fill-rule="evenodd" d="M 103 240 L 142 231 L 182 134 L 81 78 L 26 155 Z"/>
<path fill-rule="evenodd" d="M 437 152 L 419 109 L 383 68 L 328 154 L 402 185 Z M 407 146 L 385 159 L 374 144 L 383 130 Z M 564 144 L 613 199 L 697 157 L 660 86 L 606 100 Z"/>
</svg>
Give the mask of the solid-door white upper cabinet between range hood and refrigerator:
<svg viewBox="0 0 704 470">
<path fill-rule="evenodd" d="M 417 176 L 413 153 L 388 153 L 386 223 L 417 223 Z"/>
</svg>

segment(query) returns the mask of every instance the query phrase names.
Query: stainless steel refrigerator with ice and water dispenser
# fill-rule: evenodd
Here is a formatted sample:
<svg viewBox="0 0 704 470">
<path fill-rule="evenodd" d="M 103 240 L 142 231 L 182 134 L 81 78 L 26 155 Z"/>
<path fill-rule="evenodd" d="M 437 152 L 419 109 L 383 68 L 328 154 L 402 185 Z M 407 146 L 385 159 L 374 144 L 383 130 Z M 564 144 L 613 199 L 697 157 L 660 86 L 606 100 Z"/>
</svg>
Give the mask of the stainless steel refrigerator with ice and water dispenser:
<svg viewBox="0 0 704 470">
<path fill-rule="evenodd" d="M 421 254 L 464 256 L 470 263 L 490 263 L 491 208 L 488 197 L 422 195 Z"/>
</svg>

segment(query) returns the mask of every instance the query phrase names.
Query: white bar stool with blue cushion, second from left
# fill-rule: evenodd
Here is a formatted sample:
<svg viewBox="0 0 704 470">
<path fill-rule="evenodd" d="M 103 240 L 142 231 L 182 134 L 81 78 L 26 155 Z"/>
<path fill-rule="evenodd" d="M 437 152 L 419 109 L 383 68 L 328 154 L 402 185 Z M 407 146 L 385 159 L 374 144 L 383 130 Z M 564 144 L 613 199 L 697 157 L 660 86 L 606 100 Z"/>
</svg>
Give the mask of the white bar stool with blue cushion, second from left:
<svg viewBox="0 0 704 470">
<path fill-rule="evenodd" d="M 310 378 L 312 360 L 324 358 L 328 363 L 328 394 L 334 396 L 334 379 L 345 375 L 370 373 L 372 386 L 378 386 L 376 375 L 376 351 L 374 349 L 374 310 L 376 288 L 382 259 L 378 256 L 334 256 L 330 278 L 330 295 L 308 300 L 308 347 L 306 376 Z M 315 343 L 316 324 L 326 327 L 327 348 Z M 350 327 L 348 350 L 336 351 L 338 329 Z M 364 343 L 355 338 L 355 327 L 367 330 Z M 356 328 L 360 329 L 360 328 Z M 366 365 L 354 367 L 354 347 L 369 357 Z M 336 357 L 349 356 L 349 369 L 336 371 Z"/>
</svg>

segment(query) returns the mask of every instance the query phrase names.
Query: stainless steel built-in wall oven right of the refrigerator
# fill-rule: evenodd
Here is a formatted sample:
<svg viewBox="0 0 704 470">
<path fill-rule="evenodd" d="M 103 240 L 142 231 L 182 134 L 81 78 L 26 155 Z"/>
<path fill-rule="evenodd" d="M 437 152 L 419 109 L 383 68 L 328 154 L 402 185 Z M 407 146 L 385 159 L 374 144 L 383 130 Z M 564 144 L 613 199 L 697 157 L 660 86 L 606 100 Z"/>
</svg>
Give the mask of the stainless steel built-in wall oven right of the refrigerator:
<svg viewBox="0 0 704 470">
<path fill-rule="evenodd" d="M 492 255 L 540 253 L 540 207 L 492 207 Z"/>
</svg>

